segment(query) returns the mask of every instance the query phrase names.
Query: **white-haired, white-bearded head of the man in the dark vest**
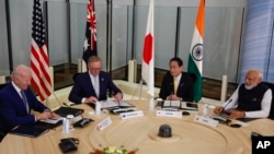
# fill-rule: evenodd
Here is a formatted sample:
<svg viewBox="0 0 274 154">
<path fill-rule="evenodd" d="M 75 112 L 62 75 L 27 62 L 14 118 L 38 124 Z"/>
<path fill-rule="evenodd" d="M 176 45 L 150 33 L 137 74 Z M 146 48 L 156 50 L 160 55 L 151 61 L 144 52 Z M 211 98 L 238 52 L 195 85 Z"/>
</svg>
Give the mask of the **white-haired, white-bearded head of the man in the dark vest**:
<svg viewBox="0 0 274 154">
<path fill-rule="evenodd" d="M 246 75 L 246 88 L 251 90 L 263 81 L 263 73 L 261 70 L 251 69 Z"/>
</svg>

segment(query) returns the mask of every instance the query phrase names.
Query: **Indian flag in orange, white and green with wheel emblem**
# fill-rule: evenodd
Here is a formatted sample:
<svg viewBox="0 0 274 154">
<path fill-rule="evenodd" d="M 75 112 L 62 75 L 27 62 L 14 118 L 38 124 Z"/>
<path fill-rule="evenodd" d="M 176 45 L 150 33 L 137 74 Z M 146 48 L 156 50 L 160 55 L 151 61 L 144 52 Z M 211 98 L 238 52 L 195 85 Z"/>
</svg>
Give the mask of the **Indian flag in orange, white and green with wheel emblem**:
<svg viewBox="0 0 274 154">
<path fill-rule="evenodd" d="M 187 72 L 194 73 L 196 80 L 194 81 L 194 100 L 199 102 L 202 98 L 203 87 L 203 39 L 204 39 L 204 10 L 205 1 L 199 1 L 196 24 L 193 33 L 192 45 L 189 56 Z"/>
</svg>

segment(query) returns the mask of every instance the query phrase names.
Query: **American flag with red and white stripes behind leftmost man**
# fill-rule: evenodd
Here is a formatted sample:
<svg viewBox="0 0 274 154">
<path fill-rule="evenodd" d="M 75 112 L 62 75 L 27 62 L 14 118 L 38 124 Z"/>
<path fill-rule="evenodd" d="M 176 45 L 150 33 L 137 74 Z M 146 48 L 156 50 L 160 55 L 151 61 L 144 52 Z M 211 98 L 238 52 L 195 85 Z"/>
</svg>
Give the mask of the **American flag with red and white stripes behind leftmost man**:
<svg viewBox="0 0 274 154">
<path fill-rule="evenodd" d="M 41 100 L 45 100 L 45 98 L 52 94 L 52 80 L 49 75 L 49 60 L 45 34 L 41 3 L 39 0 L 34 0 L 31 43 L 31 82 Z"/>
</svg>

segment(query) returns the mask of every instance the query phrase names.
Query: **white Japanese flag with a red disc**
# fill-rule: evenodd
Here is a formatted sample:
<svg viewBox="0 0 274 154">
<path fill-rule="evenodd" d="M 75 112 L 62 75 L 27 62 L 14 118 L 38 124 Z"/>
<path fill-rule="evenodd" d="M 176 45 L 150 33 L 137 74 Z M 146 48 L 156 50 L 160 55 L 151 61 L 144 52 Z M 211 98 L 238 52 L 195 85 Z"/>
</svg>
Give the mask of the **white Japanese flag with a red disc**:
<svg viewBox="0 0 274 154">
<path fill-rule="evenodd" d="M 150 0 L 147 29 L 144 42 L 141 78 L 147 83 L 148 94 L 155 96 L 155 0 Z"/>
</svg>

